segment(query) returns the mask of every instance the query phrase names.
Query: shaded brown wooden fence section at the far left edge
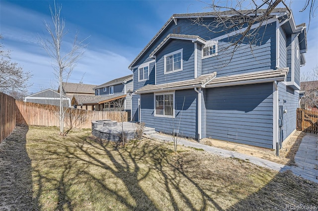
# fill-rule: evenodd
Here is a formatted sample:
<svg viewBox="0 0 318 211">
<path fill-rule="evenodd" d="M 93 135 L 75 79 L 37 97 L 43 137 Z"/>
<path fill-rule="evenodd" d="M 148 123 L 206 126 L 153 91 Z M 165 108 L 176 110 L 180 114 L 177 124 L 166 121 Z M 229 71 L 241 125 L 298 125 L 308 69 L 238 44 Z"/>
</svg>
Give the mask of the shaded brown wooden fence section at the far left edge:
<svg viewBox="0 0 318 211">
<path fill-rule="evenodd" d="M 15 99 L 0 92 L 0 143 L 15 127 Z"/>
</svg>

